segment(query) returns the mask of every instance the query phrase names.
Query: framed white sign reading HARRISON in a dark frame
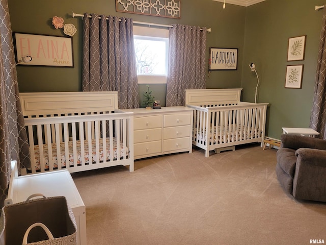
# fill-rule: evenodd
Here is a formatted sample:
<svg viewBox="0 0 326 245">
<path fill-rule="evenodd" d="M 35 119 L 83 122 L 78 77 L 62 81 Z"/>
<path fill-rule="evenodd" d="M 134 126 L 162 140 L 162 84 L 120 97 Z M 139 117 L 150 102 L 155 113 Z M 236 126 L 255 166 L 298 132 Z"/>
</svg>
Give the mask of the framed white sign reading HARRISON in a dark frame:
<svg viewBox="0 0 326 245">
<path fill-rule="evenodd" d="M 209 70 L 236 70 L 237 48 L 209 48 Z"/>
</svg>

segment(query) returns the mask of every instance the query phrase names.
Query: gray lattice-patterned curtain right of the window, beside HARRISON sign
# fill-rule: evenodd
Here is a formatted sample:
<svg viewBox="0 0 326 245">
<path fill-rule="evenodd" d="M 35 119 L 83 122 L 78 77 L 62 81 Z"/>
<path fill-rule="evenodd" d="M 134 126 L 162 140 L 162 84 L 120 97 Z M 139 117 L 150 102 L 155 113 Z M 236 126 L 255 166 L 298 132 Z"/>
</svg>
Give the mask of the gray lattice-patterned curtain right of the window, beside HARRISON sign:
<svg viewBox="0 0 326 245">
<path fill-rule="evenodd" d="M 185 89 L 204 89 L 206 28 L 173 24 L 169 30 L 166 106 L 184 105 Z"/>
</svg>

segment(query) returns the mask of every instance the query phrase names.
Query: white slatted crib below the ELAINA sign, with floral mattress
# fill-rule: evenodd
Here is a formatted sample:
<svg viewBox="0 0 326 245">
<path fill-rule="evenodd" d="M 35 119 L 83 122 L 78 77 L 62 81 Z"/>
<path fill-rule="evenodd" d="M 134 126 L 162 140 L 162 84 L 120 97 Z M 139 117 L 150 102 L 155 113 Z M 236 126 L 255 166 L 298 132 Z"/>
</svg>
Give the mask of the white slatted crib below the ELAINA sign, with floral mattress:
<svg viewBox="0 0 326 245">
<path fill-rule="evenodd" d="M 117 92 L 36 92 L 19 97 L 32 162 L 22 175 L 116 165 L 129 165 L 133 171 L 133 114 L 117 109 Z"/>
</svg>

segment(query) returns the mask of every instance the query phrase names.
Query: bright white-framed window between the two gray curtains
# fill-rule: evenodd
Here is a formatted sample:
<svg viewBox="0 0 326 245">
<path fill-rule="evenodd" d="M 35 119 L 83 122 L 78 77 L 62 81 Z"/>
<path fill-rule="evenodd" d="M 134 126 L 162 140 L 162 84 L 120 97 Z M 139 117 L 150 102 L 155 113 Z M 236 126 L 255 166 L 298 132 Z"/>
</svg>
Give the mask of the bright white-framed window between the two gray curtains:
<svg viewBox="0 0 326 245">
<path fill-rule="evenodd" d="M 133 27 L 138 83 L 167 83 L 169 31 Z"/>
</svg>

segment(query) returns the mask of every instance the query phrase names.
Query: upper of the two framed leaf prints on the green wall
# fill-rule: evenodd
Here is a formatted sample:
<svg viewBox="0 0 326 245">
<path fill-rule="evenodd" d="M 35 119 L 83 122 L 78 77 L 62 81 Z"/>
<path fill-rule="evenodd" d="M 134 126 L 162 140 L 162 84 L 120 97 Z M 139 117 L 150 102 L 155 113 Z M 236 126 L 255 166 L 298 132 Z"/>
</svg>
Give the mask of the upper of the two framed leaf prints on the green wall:
<svg viewBox="0 0 326 245">
<path fill-rule="evenodd" d="M 287 51 L 287 61 L 305 59 L 306 35 L 290 37 Z"/>
</svg>

